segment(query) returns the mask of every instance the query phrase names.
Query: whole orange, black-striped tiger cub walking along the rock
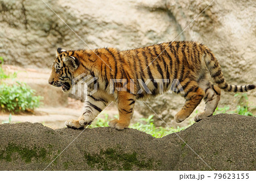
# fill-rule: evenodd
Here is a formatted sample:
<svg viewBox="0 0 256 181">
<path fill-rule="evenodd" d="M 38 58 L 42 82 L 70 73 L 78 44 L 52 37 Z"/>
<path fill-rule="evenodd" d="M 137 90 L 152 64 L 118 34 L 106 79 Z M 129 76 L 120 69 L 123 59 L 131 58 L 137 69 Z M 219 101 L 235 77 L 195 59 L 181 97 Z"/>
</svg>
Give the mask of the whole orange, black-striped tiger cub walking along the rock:
<svg viewBox="0 0 256 181">
<path fill-rule="evenodd" d="M 58 48 L 56 53 L 48 80 L 50 85 L 69 92 L 72 80 L 79 75 L 97 78 L 97 91 L 87 95 L 82 115 L 78 120 L 65 123 L 73 129 L 82 129 L 92 123 L 112 101 L 118 105 L 119 119 L 109 121 L 109 125 L 119 130 L 125 129 L 130 124 L 137 99 L 170 90 L 183 93 L 181 95 L 185 98 L 183 108 L 175 115 L 177 123 L 191 115 L 204 99 L 204 112 L 195 116 L 195 121 L 199 121 L 213 114 L 220 100 L 221 89 L 226 92 L 255 89 L 255 85 L 229 85 L 212 51 L 193 41 L 174 41 L 131 50 Z M 177 83 L 172 83 L 174 81 Z M 126 89 L 121 89 L 123 87 Z"/>
</svg>

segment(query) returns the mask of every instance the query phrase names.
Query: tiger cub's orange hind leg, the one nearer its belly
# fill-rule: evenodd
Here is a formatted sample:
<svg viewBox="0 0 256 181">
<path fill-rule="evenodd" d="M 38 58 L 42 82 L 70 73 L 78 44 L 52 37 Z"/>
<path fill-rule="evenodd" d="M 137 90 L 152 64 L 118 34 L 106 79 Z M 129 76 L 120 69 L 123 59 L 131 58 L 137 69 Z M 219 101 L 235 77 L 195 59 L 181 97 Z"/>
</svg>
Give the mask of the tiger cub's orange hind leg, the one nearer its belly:
<svg viewBox="0 0 256 181">
<path fill-rule="evenodd" d="M 177 123 L 184 121 L 195 108 L 200 104 L 201 100 L 204 97 L 204 90 L 201 89 L 197 83 L 191 83 L 191 88 L 185 91 L 185 104 L 183 108 L 175 115 L 174 120 Z"/>
</svg>

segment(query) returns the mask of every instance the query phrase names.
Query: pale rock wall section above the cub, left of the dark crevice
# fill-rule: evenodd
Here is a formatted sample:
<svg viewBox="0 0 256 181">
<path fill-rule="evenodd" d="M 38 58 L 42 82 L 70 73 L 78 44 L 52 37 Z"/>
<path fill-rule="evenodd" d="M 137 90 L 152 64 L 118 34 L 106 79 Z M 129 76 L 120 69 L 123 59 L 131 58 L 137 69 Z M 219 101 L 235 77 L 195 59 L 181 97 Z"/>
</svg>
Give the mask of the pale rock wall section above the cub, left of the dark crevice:
<svg viewBox="0 0 256 181">
<path fill-rule="evenodd" d="M 135 0 L 44 2 L 0 1 L 0 54 L 8 64 L 49 67 L 57 47 L 127 49 L 177 36 L 166 11 L 150 11 Z"/>
</svg>

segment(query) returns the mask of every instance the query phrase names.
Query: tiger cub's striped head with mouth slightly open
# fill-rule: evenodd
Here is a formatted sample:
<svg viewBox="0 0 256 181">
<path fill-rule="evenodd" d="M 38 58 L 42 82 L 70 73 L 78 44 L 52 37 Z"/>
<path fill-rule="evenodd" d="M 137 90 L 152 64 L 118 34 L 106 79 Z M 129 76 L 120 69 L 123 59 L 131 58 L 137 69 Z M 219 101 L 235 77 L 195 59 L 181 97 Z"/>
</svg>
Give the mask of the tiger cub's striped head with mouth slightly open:
<svg viewBox="0 0 256 181">
<path fill-rule="evenodd" d="M 52 65 L 52 72 L 48 79 L 50 85 L 61 87 L 63 92 L 69 92 L 72 86 L 73 72 L 78 68 L 79 61 L 76 57 L 70 56 L 62 48 L 56 51 L 56 59 Z"/>
</svg>

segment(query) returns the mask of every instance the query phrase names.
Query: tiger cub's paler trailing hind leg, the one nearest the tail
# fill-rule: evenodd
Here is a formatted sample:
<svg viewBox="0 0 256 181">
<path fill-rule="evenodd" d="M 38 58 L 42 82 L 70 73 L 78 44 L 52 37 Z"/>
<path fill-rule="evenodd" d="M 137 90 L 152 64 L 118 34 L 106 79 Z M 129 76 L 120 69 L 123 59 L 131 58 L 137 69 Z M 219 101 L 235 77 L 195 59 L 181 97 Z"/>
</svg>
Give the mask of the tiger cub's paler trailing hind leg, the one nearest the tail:
<svg viewBox="0 0 256 181">
<path fill-rule="evenodd" d="M 205 91 L 204 101 L 205 101 L 205 110 L 202 113 L 197 114 L 194 117 L 196 122 L 213 115 L 218 102 L 220 101 L 221 89 L 220 87 L 213 85 L 210 82 L 199 83 L 199 86 Z"/>
</svg>

